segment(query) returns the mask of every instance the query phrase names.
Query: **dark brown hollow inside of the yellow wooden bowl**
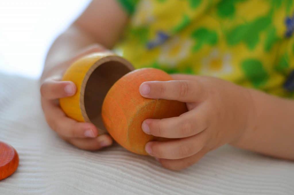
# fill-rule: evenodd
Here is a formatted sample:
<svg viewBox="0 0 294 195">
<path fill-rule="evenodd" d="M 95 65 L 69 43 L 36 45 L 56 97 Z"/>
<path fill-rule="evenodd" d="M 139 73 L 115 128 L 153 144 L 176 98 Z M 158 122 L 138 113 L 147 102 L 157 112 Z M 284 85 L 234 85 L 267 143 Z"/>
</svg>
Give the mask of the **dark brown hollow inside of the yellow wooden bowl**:
<svg viewBox="0 0 294 195">
<path fill-rule="evenodd" d="M 107 132 L 101 118 L 101 108 L 108 90 L 118 79 L 132 70 L 132 65 L 121 58 L 106 62 L 98 61 L 92 70 L 89 70 L 83 97 L 83 115 L 99 129 L 99 134 Z"/>
</svg>

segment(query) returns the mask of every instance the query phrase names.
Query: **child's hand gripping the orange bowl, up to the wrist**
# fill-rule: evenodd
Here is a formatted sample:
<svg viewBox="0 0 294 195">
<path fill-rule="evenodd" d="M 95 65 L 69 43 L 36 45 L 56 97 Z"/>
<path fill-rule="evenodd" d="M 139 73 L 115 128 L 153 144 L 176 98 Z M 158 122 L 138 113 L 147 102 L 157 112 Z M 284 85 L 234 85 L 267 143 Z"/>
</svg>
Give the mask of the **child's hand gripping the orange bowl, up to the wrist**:
<svg viewBox="0 0 294 195">
<path fill-rule="evenodd" d="M 142 129 L 172 141 L 148 142 L 145 150 L 166 168 L 180 170 L 196 163 L 207 152 L 236 141 L 248 126 L 251 98 L 248 90 L 233 83 L 192 75 L 173 75 L 173 81 L 141 84 L 143 97 L 178 100 L 188 112 L 179 117 L 146 119 Z"/>
</svg>

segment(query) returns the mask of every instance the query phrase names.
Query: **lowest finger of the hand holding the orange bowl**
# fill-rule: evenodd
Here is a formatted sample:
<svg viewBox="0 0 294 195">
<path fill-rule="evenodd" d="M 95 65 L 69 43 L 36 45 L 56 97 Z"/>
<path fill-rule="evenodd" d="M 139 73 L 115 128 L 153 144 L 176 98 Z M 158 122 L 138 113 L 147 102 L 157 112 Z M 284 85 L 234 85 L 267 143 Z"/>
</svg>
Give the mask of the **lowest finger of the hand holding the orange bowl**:
<svg viewBox="0 0 294 195">
<path fill-rule="evenodd" d="M 202 149 L 198 153 L 194 154 L 193 156 L 189 156 L 186 158 L 176 159 L 176 160 L 170 160 L 170 159 L 158 159 L 158 161 L 162 164 L 163 167 L 180 171 L 184 168 L 187 168 L 196 162 L 198 162 L 206 153 L 208 150 Z"/>
</svg>

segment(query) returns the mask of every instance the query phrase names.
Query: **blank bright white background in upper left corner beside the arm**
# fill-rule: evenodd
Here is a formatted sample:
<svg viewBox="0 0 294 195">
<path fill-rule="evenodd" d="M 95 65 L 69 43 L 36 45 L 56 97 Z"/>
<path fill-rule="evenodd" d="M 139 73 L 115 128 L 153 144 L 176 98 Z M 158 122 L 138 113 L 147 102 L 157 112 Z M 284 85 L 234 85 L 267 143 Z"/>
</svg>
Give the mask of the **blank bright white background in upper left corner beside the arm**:
<svg viewBox="0 0 294 195">
<path fill-rule="evenodd" d="M 0 72 L 38 78 L 56 36 L 89 2 L 0 0 Z"/>
</svg>

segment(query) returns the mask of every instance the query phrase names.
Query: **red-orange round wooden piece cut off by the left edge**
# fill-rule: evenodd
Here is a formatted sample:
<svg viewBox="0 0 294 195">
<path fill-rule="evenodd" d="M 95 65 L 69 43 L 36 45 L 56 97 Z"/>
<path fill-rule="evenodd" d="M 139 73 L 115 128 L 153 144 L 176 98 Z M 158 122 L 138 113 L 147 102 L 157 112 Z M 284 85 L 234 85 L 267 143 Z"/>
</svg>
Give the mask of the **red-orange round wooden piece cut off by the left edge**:
<svg viewBox="0 0 294 195">
<path fill-rule="evenodd" d="M 4 143 L 0 142 L 0 180 L 12 175 L 19 165 L 19 156 L 16 150 Z"/>
</svg>

